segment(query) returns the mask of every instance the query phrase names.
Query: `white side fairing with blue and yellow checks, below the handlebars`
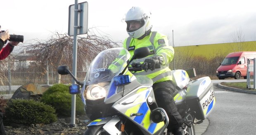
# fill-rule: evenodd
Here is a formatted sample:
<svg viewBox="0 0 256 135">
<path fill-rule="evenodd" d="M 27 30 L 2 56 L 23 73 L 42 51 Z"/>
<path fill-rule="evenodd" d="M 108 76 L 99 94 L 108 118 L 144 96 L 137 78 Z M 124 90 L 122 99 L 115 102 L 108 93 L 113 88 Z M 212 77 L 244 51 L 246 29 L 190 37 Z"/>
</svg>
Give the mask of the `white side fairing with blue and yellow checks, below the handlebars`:
<svg viewBox="0 0 256 135">
<path fill-rule="evenodd" d="M 152 112 L 147 104 L 147 99 L 149 97 L 149 99 L 151 99 L 152 96 L 154 96 L 152 90 L 152 87 L 138 87 L 118 100 L 112 106 L 114 109 L 123 114 L 123 116 L 126 116 L 137 126 L 146 131 L 149 135 L 153 135 L 161 128 L 164 128 L 165 125 L 163 121 L 160 123 L 154 123 L 150 119 L 150 114 Z"/>
</svg>

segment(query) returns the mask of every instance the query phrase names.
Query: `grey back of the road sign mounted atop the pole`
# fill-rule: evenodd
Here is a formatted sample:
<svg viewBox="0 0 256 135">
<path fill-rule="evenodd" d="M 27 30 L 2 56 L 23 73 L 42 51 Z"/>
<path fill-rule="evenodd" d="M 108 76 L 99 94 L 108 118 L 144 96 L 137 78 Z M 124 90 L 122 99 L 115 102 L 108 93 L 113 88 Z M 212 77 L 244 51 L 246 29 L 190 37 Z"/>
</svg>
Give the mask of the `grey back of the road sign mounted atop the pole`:
<svg viewBox="0 0 256 135">
<path fill-rule="evenodd" d="M 77 35 L 86 34 L 88 30 L 88 2 L 78 3 L 78 25 L 74 26 L 75 5 L 69 6 L 69 32 L 70 36 L 74 35 L 74 28 L 77 27 Z"/>
</svg>

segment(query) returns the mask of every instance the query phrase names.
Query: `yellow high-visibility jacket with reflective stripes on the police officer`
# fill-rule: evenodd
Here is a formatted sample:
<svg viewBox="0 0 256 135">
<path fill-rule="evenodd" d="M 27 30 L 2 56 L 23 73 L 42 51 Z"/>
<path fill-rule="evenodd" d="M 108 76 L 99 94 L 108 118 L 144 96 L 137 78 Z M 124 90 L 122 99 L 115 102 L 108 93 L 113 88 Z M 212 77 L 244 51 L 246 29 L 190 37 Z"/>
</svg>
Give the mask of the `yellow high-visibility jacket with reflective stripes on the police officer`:
<svg viewBox="0 0 256 135">
<path fill-rule="evenodd" d="M 174 49 L 169 46 L 168 39 L 166 35 L 158 32 L 151 32 L 149 35 L 145 36 L 142 40 L 138 40 L 132 37 L 126 38 L 123 42 L 123 48 L 126 48 L 130 55 L 133 56 L 134 50 L 140 47 L 148 47 L 150 50 L 150 55 L 146 58 L 152 58 L 154 56 L 162 56 L 164 61 L 161 68 L 156 68 L 155 70 L 148 70 L 135 72 L 134 75 L 146 75 L 153 82 L 161 82 L 172 80 L 171 69 L 169 68 L 169 62 L 173 60 Z M 143 63 L 146 58 L 136 59 L 133 62 Z"/>
</svg>

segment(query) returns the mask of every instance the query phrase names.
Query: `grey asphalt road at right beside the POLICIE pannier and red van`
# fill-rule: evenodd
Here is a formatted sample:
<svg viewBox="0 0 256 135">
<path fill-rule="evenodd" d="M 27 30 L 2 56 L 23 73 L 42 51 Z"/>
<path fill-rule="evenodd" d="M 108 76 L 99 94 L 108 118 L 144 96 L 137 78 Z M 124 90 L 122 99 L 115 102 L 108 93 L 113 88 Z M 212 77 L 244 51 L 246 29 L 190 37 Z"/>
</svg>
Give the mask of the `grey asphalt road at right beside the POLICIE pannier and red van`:
<svg viewBox="0 0 256 135">
<path fill-rule="evenodd" d="M 246 91 L 233 92 L 232 88 L 218 88 L 220 82 L 244 82 L 239 80 L 212 80 L 216 106 L 203 125 L 195 126 L 196 135 L 255 135 L 256 94 Z M 227 91 L 227 89 L 229 89 Z M 245 93 L 241 93 L 245 92 Z"/>
</svg>

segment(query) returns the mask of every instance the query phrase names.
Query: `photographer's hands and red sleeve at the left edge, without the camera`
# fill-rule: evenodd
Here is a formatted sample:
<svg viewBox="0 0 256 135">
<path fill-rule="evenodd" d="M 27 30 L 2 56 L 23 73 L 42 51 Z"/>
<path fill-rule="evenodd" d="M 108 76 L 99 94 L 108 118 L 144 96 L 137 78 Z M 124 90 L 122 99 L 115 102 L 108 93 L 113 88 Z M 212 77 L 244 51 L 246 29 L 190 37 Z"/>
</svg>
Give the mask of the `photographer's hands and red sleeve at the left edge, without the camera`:
<svg viewBox="0 0 256 135">
<path fill-rule="evenodd" d="M 0 26 L 0 30 L 1 30 L 1 26 Z M 7 42 L 7 40 L 9 40 L 10 35 L 8 33 L 9 31 L 6 30 L 4 32 L 1 31 L 0 33 L 0 60 L 5 59 L 7 56 L 9 56 L 9 54 L 12 52 L 12 50 L 14 49 L 14 46 L 17 46 L 19 44 L 19 42 L 17 41 L 11 41 L 9 42 L 5 47 L 5 43 Z"/>
</svg>

